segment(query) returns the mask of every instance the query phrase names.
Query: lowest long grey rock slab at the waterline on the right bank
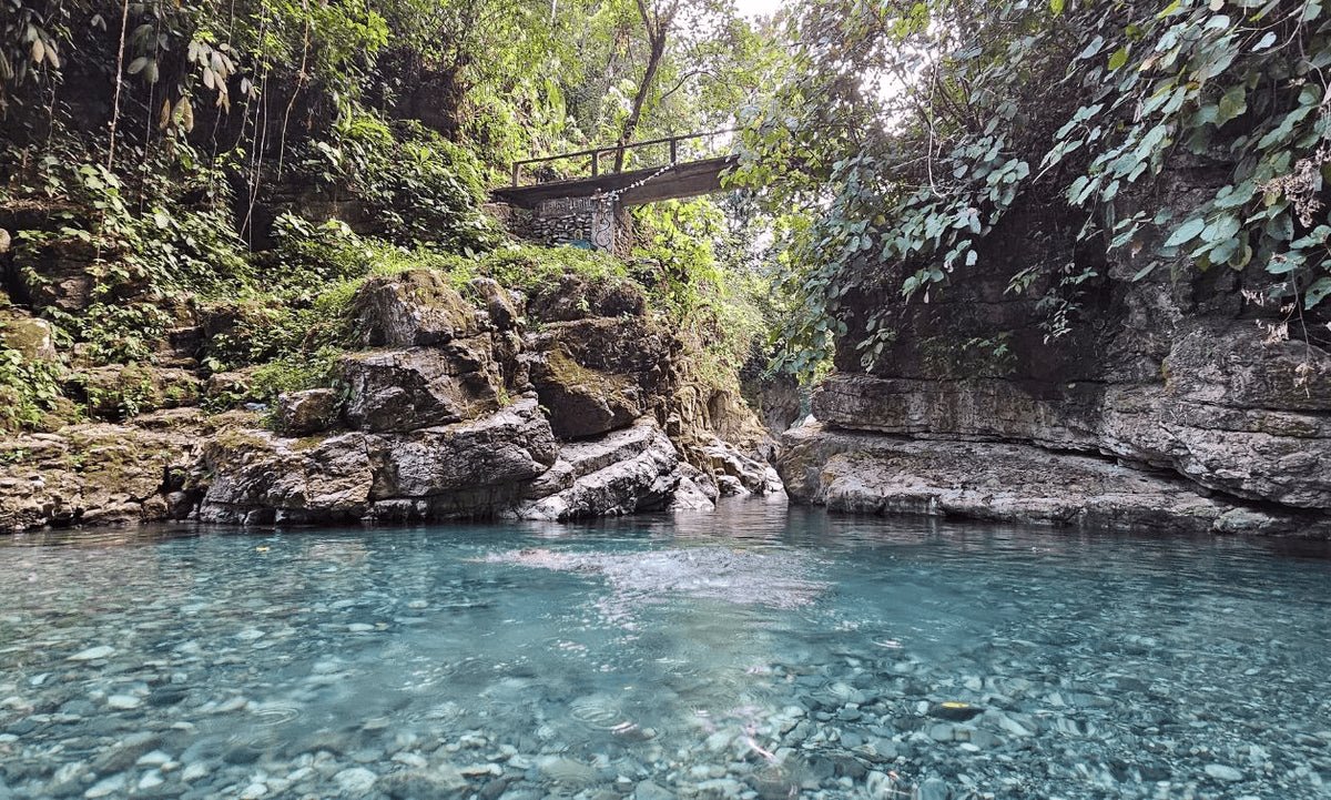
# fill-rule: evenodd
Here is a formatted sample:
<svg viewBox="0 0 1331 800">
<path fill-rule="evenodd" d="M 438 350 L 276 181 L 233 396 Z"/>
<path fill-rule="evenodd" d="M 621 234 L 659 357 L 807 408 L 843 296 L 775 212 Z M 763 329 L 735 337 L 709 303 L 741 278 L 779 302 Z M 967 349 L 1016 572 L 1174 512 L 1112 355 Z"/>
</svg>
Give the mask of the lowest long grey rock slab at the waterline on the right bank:
<svg viewBox="0 0 1331 800">
<path fill-rule="evenodd" d="M 964 516 L 1173 532 L 1324 536 L 1316 514 L 1206 497 L 1183 478 L 1033 445 L 788 431 L 780 461 L 793 499 L 836 511 Z"/>
</svg>

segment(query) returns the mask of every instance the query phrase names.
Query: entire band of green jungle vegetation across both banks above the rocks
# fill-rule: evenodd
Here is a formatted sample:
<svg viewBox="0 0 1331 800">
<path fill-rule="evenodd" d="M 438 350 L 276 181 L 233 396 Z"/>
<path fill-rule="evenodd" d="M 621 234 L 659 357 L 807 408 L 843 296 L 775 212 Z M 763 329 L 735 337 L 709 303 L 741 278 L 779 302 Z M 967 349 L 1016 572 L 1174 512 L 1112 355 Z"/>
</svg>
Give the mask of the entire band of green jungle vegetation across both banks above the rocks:
<svg viewBox="0 0 1331 800">
<path fill-rule="evenodd" d="M 0 422 L 106 406 L 79 370 L 152 362 L 189 317 L 233 322 L 204 369 L 260 367 L 217 407 L 326 382 L 357 282 L 415 265 L 635 280 L 717 381 L 768 342 L 805 377 L 837 337 L 868 365 L 894 331 L 848 330 L 840 298 L 928 302 L 1021 204 L 1141 258 L 1138 280 L 1264 276 L 1271 335 L 1324 341 L 1328 67 L 1315 0 L 809 0 L 761 21 L 728 0 L 0 0 L 0 258 L 60 345 L 0 353 Z M 518 244 L 482 209 L 515 158 L 731 125 L 747 192 L 640 212 L 627 262 Z M 1226 180 L 1175 214 L 1185 168 Z M 1038 260 L 1010 292 L 1058 337 L 1095 269 Z M 85 297 L 57 300 L 73 273 Z M 109 405 L 133 413 L 133 390 Z"/>
</svg>

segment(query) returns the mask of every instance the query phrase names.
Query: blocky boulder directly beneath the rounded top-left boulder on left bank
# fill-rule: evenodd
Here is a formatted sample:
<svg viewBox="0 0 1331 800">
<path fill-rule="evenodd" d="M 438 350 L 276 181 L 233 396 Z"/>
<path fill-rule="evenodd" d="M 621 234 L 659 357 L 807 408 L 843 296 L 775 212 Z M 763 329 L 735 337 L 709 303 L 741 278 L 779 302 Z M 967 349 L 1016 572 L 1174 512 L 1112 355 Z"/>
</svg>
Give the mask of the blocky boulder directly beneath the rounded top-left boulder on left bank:
<svg viewBox="0 0 1331 800">
<path fill-rule="evenodd" d="M 342 359 L 341 371 L 349 387 L 346 421 L 359 430 L 451 425 L 499 407 L 502 378 L 488 337 L 355 353 Z"/>
</svg>

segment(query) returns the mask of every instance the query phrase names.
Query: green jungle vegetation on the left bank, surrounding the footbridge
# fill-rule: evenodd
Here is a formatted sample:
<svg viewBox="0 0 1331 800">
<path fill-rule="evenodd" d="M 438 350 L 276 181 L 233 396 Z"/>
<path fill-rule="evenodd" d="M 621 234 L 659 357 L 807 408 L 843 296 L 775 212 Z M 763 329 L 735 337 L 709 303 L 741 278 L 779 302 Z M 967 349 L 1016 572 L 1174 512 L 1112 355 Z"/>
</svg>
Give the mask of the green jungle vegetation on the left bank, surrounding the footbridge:
<svg viewBox="0 0 1331 800">
<path fill-rule="evenodd" d="M 520 157 L 723 128 L 780 57 L 724 0 L 5 0 L 0 257 L 61 357 L 5 350 L 0 422 L 133 414 L 146 387 L 80 371 L 161 361 L 190 321 L 226 321 L 204 370 L 258 366 L 212 407 L 325 383 L 358 282 L 413 266 L 640 282 L 733 382 L 768 311 L 752 214 L 654 206 L 618 262 L 482 205 Z"/>
</svg>

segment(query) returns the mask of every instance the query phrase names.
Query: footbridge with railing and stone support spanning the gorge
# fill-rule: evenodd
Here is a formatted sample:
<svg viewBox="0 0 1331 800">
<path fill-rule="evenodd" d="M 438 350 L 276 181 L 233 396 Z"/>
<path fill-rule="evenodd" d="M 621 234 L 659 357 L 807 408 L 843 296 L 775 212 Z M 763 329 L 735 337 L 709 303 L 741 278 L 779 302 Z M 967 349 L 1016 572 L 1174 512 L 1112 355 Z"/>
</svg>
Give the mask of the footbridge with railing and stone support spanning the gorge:
<svg viewBox="0 0 1331 800">
<path fill-rule="evenodd" d="M 721 176 L 739 157 L 713 153 L 716 140 L 731 133 L 735 130 L 689 133 L 526 158 L 514 162 L 511 185 L 490 194 L 498 202 L 530 212 L 524 233 L 532 238 L 622 252 L 631 237 L 626 208 L 721 190 Z M 612 157 L 608 172 L 603 169 L 607 156 Z M 635 157 L 632 169 L 620 168 L 626 156 Z M 552 166 L 560 161 L 575 162 L 572 172 L 583 174 L 556 176 Z"/>
</svg>

